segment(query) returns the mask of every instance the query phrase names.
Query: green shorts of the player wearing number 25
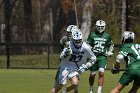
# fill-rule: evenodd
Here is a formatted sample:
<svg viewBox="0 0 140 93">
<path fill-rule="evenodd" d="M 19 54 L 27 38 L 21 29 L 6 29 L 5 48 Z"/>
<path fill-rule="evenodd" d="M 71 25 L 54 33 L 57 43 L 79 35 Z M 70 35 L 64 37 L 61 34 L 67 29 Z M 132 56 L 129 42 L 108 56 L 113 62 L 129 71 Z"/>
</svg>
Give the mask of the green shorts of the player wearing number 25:
<svg viewBox="0 0 140 93">
<path fill-rule="evenodd" d="M 90 67 L 90 71 L 97 71 L 99 68 L 105 68 L 107 57 L 97 56 L 96 63 Z"/>
</svg>

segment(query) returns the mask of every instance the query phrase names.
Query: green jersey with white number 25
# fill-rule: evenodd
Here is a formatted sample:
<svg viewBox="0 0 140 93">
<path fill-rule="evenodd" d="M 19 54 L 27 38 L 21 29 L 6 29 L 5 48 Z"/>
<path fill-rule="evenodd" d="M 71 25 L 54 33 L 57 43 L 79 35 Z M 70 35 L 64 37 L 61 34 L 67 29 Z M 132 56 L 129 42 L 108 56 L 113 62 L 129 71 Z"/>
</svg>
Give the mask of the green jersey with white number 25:
<svg viewBox="0 0 140 93">
<path fill-rule="evenodd" d="M 96 56 L 106 56 L 108 47 L 113 45 L 112 38 L 107 32 L 101 34 L 96 31 L 91 32 L 87 42 L 92 46 L 92 50 Z"/>
</svg>

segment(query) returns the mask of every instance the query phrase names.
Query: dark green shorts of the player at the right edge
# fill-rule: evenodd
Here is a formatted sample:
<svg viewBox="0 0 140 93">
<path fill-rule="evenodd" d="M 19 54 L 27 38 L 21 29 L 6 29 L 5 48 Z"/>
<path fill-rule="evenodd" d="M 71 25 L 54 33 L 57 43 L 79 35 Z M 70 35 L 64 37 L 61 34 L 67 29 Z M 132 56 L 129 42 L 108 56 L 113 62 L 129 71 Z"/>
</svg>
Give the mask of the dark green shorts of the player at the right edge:
<svg viewBox="0 0 140 93">
<path fill-rule="evenodd" d="M 126 69 L 126 71 L 121 76 L 119 83 L 123 85 L 128 85 L 132 81 L 134 81 L 134 85 L 140 86 L 140 68 Z"/>
</svg>

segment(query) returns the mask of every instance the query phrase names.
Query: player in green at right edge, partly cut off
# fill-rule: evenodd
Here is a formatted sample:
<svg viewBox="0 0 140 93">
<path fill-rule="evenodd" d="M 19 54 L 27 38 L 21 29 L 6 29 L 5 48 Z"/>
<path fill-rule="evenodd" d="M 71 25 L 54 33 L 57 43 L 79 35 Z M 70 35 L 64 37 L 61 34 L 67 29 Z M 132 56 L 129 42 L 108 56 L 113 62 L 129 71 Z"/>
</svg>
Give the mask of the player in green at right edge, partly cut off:
<svg viewBox="0 0 140 93">
<path fill-rule="evenodd" d="M 113 74 L 119 72 L 120 63 L 123 59 L 128 63 L 128 66 L 122 74 L 118 85 L 110 93 L 119 93 L 132 81 L 133 86 L 128 93 L 136 93 L 140 87 L 140 44 L 134 43 L 134 36 L 134 33 L 130 31 L 125 31 L 122 34 L 122 45 L 111 72 Z"/>
</svg>

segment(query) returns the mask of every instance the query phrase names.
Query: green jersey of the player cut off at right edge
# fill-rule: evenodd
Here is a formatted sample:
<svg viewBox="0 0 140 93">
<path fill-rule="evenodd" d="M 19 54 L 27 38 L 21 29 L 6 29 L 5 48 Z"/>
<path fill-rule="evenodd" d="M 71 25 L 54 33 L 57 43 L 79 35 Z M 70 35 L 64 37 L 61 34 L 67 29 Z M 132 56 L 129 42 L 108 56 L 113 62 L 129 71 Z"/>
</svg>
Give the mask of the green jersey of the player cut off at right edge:
<svg viewBox="0 0 140 93">
<path fill-rule="evenodd" d="M 140 63 L 140 44 L 123 44 L 120 47 L 119 54 L 124 56 L 124 60 L 128 63 L 128 66 L 131 66 L 137 62 Z"/>
</svg>

